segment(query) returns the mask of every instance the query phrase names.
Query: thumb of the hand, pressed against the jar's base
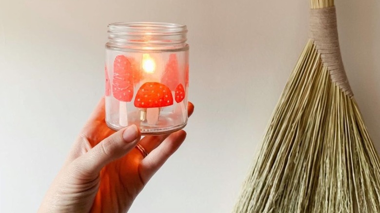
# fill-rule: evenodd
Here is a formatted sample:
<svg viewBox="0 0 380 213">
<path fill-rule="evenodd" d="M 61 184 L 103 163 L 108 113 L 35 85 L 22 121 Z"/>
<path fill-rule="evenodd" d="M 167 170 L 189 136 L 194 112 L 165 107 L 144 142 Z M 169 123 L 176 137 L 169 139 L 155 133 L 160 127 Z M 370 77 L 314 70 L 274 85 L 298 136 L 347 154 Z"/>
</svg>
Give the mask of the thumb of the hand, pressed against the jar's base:
<svg viewBox="0 0 380 213">
<path fill-rule="evenodd" d="M 140 138 L 141 134 L 136 125 L 121 129 L 78 158 L 76 168 L 86 176 L 97 176 L 105 165 L 130 152 Z"/>
</svg>

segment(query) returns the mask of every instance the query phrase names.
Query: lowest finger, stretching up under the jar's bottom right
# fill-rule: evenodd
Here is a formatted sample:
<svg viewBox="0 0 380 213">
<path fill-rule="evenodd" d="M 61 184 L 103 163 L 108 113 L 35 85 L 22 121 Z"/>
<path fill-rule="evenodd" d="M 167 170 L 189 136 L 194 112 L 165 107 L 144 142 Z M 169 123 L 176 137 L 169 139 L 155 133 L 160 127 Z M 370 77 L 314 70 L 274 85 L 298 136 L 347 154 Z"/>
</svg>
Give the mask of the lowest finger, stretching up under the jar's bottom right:
<svg viewBox="0 0 380 213">
<path fill-rule="evenodd" d="M 185 141 L 185 138 L 186 132 L 184 130 L 172 133 L 161 145 L 141 161 L 139 173 L 144 185 L 179 148 L 182 142 Z"/>
</svg>

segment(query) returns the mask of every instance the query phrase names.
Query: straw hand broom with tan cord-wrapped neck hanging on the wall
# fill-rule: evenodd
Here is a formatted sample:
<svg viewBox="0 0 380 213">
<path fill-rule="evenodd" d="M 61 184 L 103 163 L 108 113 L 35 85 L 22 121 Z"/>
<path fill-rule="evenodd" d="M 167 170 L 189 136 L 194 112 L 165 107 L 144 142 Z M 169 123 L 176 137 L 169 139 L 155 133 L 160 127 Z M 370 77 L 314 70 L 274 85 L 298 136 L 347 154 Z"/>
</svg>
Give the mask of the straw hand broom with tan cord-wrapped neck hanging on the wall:
<svg viewBox="0 0 380 213">
<path fill-rule="evenodd" d="M 310 30 L 235 213 L 380 213 L 379 156 L 344 72 L 334 0 Z"/>
</svg>

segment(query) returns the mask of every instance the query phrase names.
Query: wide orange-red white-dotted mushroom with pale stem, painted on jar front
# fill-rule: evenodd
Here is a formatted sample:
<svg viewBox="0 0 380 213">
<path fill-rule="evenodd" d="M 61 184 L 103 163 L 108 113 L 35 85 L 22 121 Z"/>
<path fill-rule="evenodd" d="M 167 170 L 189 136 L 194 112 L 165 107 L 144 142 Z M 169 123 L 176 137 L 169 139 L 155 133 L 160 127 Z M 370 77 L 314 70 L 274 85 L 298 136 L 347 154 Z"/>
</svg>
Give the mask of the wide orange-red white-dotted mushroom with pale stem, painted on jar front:
<svg viewBox="0 0 380 213">
<path fill-rule="evenodd" d="M 155 125 L 160 115 L 160 107 L 173 105 L 171 90 L 164 84 L 147 82 L 137 91 L 134 106 L 146 111 L 148 124 Z"/>
</svg>

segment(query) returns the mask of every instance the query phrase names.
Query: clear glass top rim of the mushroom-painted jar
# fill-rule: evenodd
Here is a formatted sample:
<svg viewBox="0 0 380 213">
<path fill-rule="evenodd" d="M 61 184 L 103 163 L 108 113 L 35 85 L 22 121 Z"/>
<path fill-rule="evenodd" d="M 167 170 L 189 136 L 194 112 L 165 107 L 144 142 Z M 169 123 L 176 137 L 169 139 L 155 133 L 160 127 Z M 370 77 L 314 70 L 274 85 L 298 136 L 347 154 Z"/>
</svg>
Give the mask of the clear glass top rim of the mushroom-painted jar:
<svg viewBox="0 0 380 213">
<path fill-rule="evenodd" d="M 108 25 L 108 33 L 131 35 L 179 35 L 188 32 L 184 24 L 166 22 L 114 22 Z"/>
</svg>

